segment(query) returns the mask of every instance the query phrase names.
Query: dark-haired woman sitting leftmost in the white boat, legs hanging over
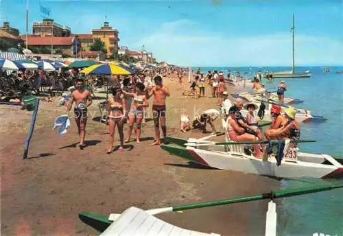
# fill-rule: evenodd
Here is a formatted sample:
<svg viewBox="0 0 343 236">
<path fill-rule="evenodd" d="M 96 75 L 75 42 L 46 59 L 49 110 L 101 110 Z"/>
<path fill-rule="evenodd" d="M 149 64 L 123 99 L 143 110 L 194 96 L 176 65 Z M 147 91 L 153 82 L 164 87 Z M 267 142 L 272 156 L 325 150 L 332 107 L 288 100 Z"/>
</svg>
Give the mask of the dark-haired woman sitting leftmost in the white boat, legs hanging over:
<svg viewBox="0 0 343 236">
<path fill-rule="evenodd" d="M 248 134 L 245 132 L 244 128 L 239 126 L 237 123 L 237 118 L 241 115 L 239 113 L 239 108 L 237 106 L 232 106 L 230 110 L 228 111 L 229 117 L 227 121 L 227 127 L 228 127 L 228 137 L 232 141 L 256 141 L 257 137 L 253 134 Z M 255 156 L 257 158 L 262 158 L 263 152 L 261 152 L 261 149 L 258 144 L 253 144 L 252 148 L 254 149 Z"/>
</svg>

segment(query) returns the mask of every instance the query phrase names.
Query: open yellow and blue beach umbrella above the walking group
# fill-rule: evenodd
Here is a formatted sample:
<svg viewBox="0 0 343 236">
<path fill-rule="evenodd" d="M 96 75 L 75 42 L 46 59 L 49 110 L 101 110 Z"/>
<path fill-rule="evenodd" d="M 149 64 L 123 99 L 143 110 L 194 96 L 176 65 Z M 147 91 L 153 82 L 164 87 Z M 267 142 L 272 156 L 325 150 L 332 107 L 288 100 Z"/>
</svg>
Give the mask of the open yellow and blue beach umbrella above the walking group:
<svg viewBox="0 0 343 236">
<path fill-rule="evenodd" d="M 118 64 L 106 63 L 106 64 L 94 64 L 91 67 L 87 67 L 80 71 L 80 73 L 94 74 L 94 75 L 130 75 L 131 71 L 125 69 Z"/>
</svg>

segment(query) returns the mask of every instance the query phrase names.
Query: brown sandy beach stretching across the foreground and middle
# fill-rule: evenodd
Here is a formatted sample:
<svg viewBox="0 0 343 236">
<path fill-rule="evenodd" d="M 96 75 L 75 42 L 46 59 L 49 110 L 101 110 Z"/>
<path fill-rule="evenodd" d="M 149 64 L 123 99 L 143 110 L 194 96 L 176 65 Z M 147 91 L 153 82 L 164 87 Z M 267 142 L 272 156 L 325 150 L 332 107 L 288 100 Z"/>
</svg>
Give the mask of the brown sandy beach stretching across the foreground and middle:
<svg viewBox="0 0 343 236">
<path fill-rule="evenodd" d="M 213 108 L 217 98 L 182 97 L 176 78 L 163 78 L 171 96 L 167 99 L 167 134 L 172 137 L 203 137 L 200 130 L 180 132 L 181 114 L 193 118 Z M 189 86 L 183 78 L 184 85 Z M 228 93 L 233 93 L 228 87 Z M 97 97 L 104 93 L 96 93 Z M 32 113 L 19 107 L 1 106 L 1 233 L 2 235 L 98 235 L 78 219 L 81 211 L 108 215 L 131 206 L 141 209 L 169 207 L 223 198 L 236 198 L 279 189 L 268 177 L 206 169 L 171 156 L 161 147 L 150 146 L 153 122 L 143 124 L 141 143 L 134 139 L 125 151 L 106 154 L 108 126 L 99 123 L 95 99 L 88 109 L 86 148 L 75 147 L 75 123 L 62 136 L 52 130 L 54 119 L 66 113 L 53 103 L 40 103 L 29 158 L 23 161 L 23 147 Z M 150 99 L 151 110 L 152 100 Z M 216 121 L 217 131 L 222 131 Z M 132 135 L 132 138 L 134 134 Z M 217 137 L 224 140 L 224 137 Z M 116 144 L 118 136 L 116 133 Z M 233 204 L 184 213 L 158 215 L 176 226 L 220 235 L 263 235 L 267 200 Z"/>
</svg>

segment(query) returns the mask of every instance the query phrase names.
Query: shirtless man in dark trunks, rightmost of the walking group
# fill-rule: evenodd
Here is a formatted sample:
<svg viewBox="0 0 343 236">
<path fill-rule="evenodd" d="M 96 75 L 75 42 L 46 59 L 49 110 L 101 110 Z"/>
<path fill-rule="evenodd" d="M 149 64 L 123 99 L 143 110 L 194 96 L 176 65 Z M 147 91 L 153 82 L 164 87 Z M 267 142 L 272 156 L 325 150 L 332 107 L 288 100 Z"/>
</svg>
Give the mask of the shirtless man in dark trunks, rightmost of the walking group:
<svg viewBox="0 0 343 236">
<path fill-rule="evenodd" d="M 152 87 L 152 90 L 147 93 L 147 99 L 154 95 L 152 100 L 152 116 L 155 124 L 155 141 L 151 145 L 160 144 L 160 122 L 163 132 L 163 140 L 167 136 L 167 128 L 165 126 L 165 98 L 170 96 L 169 89 L 162 84 L 161 76 L 157 75 L 154 78 L 156 86 Z"/>
</svg>

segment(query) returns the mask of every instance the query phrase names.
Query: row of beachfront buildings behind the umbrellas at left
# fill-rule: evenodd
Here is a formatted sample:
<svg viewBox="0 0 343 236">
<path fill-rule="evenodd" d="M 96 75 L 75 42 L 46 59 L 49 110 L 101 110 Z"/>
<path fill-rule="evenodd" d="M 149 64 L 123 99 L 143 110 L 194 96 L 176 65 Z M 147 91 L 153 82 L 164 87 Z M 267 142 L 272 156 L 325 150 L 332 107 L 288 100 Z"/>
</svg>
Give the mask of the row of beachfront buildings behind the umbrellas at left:
<svg viewBox="0 0 343 236">
<path fill-rule="evenodd" d="M 92 29 L 91 34 L 73 34 L 70 27 L 62 26 L 53 19 L 34 22 L 32 34 L 28 36 L 19 35 L 19 30 L 10 27 L 8 22 L 3 23 L 3 27 L 0 28 L 1 39 L 10 42 L 12 47 L 17 47 L 18 44 L 26 45 L 27 40 L 29 48 L 49 49 L 51 54 L 67 54 L 77 58 L 98 60 L 118 60 L 119 56 L 127 55 L 145 63 L 156 62 L 152 53 L 144 49 L 130 51 L 128 47 L 119 47 L 118 34 L 117 29 L 111 27 L 108 22 L 104 22 L 104 25 L 98 29 Z M 96 40 L 100 40 L 104 44 L 106 54 L 103 54 L 102 51 L 91 51 Z"/>
</svg>

